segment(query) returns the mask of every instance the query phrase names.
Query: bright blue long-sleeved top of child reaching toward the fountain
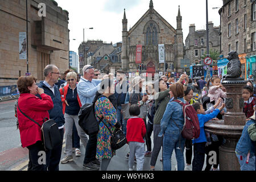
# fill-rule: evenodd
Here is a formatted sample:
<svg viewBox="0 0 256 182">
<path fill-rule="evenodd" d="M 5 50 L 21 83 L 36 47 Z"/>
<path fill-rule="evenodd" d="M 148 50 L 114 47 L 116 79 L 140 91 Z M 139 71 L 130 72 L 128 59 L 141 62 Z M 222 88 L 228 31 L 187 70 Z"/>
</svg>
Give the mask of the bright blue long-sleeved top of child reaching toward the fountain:
<svg viewBox="0 0 256 182">
<path fill-rule="evenodd" d="M 205 131 L 204 131 L 204 123 L 208 122 L 210 119 L 215 118 L 218 115 L 218 113 L 220 113 L 220 110 L 215 109 L 210 114 L 197 114 L 199 125 L 200 125 L 200 135 L 199 135 L 199 138 L 192 139 L 193 144 L 207 142 L 207 138 L 205 136 Z"/>
</svg>

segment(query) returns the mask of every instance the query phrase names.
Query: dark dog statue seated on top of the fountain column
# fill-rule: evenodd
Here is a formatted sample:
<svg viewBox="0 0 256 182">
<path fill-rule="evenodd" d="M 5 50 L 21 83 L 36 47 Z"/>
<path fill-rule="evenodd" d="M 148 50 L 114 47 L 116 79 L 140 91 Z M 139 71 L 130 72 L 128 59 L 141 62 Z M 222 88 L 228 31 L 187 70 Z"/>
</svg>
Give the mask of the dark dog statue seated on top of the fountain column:
<svg viewBox="0 0 256 182">
<path fill-rule="evenodd" d="M 239 78 L 242 74 L 241 70 L 241 62 L 238 57 L 238 53 L 236 51 L 230 51 L 228 53 L 227 59 L 229 60 L 227 65 L 227 75 L 226 78 Z"/>
</svg>

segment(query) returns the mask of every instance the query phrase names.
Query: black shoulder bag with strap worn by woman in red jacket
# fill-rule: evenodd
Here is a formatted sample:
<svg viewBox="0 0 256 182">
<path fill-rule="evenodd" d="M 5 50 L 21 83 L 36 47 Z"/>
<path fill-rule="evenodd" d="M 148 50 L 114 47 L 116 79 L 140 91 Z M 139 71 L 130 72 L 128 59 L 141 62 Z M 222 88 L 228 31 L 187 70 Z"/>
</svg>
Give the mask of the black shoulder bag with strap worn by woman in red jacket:
<svg viewBox="0 0 256 182">
<path fill-rule="evenodd" d="M 17 103 L 18 105 L 18 103 Z M 19 108 L 19 105 L 18 105 Z M 25 117 L 30 119 L 32 122 L 36 123 L 42 131 L 43 135 L 43 145 L 45 150 L 52 150 L 56 146 L 59 146 L 63 143 L 63 140 L 60 135 L 59 127 L 57 126 L 57 123 L 53 119 L 44 118 L 43 119 L 43 125 L 39 125 L 38 122 L 36 122 L 34 119 L 28 117 L 28 115 L 24 114 L 20 108 L 20 113 L 22 113 Z M 47 120 L 47 121 L 46 121 Z"/>
</svg>

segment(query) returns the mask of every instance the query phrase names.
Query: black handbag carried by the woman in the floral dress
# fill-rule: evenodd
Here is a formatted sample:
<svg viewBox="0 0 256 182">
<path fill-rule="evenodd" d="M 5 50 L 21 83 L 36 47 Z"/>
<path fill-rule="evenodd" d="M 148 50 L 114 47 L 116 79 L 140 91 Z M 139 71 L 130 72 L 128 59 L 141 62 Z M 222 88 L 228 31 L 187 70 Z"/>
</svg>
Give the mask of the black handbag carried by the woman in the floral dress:
<svg viewBox="0 0 256 182">
<path fill-rule="evenodd" d="M 114 133 L 112 133 L 112 131 L 109 129 L 106 123 L 104 121 L 102 122 L 104 123 L 104 125 L 106 126 L 106 128 L 109 130 L 111 134 L 110 143 L 111 143 L 112 150 L 118 150 L 119 148 L 121 148 L 127 143 L 127 139 L 122 130 L 115 129 Z"/>
</svg>

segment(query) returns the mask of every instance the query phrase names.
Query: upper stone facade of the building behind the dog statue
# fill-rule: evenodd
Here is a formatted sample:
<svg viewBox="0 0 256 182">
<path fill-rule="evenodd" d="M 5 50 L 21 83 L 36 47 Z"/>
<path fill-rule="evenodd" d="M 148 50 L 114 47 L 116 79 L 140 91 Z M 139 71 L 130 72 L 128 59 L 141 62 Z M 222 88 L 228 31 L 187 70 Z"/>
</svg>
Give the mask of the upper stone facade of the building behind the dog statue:
<svg viewBox="0 0 256 182">
<path fill-rule="evenodd" d="M 237 6 L 238 3 L 238 6 Z M 228 56 L 228 52 L 235 50 L 239 55 L 246 56 L 256 53 L 256 10 L 255 1 L 224 0 L 219 10 L 221 16 L 221 54 Z M 238 23 L 238 24 L 237 24 Z M 229 35 L 230 24 L 230 35 Z M 237 30 L 238 27 L 238 30 Z"/>
</svg>

